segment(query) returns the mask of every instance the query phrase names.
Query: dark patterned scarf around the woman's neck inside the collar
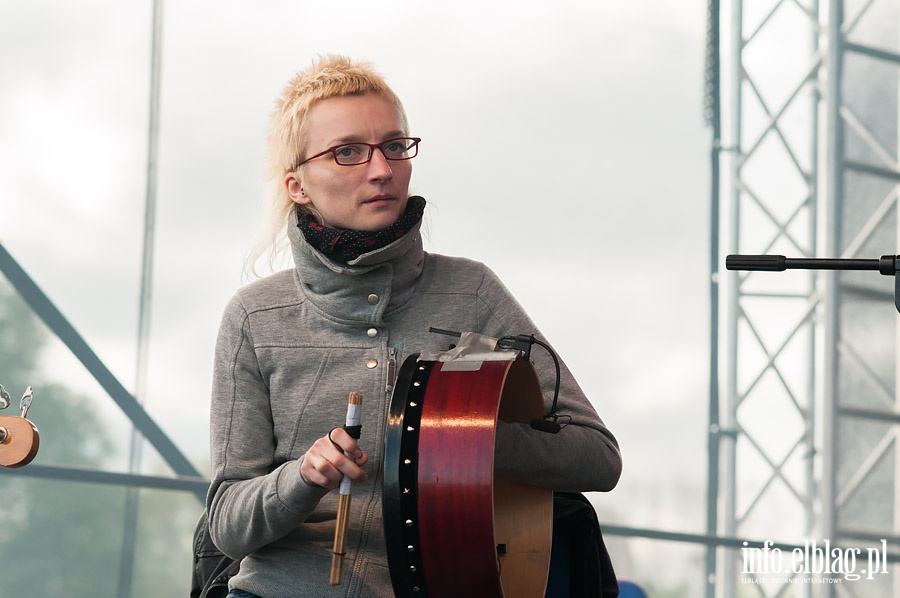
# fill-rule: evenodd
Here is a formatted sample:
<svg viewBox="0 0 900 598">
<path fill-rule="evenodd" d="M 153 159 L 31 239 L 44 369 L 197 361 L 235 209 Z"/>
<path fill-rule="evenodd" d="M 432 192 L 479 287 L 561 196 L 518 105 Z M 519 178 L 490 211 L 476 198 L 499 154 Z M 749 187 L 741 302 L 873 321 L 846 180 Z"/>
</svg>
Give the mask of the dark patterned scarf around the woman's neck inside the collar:
<svg viewBox="0 0 900 598">
<path fill-rule="evenodd" d="M 306 241 L 322 254 L 336 262 L 346 264 L 364 253 L 390 245 L 422 219 L 425 199 L 413 195 L 406 202 L 406 210 L 397 222 L 379 231 L 343 230 L 319 224 L 315 217 L 297 207 L 297 226 Z"/>
</svg>

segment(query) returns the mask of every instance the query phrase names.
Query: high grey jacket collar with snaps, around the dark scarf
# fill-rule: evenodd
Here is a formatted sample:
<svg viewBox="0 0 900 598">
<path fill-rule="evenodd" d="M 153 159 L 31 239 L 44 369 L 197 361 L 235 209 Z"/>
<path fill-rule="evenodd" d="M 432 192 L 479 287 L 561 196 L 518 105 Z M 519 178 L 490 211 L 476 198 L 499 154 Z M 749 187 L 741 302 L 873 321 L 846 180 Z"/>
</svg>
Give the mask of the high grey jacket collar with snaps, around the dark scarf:
<svg viewBox="0 0 900 598">
<path fill-rule="evenodd" d="M 409 300 L 425 261 L 421 221 L 390 245 L 364 253 L 349 264 L 314 249 L 291 210 L 287 236 L 299 284 L 320 310 L 348 324 L 378 324 L 382 316 Z M 372 297 L 374 296 L 374 297 Z"/>
</svg>

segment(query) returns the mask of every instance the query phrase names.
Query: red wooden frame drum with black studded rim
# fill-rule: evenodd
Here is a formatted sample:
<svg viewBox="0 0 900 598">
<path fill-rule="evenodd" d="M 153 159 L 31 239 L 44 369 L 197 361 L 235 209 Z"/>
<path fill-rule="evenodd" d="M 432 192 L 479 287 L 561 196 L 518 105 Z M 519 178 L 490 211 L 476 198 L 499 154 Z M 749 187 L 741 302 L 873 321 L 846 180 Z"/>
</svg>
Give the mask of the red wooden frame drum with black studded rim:
<svg viewBox="0 0 900 598">
<path fill-rule="evenodd" d="M 544 401 L 530 361 L 406 359 L 391 399 L 384 526 L 399 597 L 543 598 L 553 493 L 494 472 L 498 420 Z"/>
</svg>

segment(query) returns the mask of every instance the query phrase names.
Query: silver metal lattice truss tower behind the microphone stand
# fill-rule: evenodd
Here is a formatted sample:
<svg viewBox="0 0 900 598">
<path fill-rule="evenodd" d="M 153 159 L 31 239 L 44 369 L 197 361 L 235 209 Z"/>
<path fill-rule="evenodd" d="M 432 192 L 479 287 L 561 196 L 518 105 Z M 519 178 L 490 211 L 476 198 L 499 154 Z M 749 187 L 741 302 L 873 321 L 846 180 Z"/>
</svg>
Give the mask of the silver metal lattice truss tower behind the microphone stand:
<svg viewBox="0 0 900 598">
<path fill-rule="evenodd" d="M 898 8 L 898 0 L 727 3 L 715 247 L 896 253 Z M 722 383 L 711 392 L 707 532 L 886 540 L 896 550 L 897 313 L 887 281 L 831 271 L 731 272 L 717 282 L 713 379 L 721 372 Z M 737 596 L 739 575 L 748 576 L 739 550 L 710 549 L 708 598 Z M 897 595 L 894 582 L 879 581 L 866 596 Z M 856 596 L 861 587 L 754 586 L 759 596 Z"/>
</svg>

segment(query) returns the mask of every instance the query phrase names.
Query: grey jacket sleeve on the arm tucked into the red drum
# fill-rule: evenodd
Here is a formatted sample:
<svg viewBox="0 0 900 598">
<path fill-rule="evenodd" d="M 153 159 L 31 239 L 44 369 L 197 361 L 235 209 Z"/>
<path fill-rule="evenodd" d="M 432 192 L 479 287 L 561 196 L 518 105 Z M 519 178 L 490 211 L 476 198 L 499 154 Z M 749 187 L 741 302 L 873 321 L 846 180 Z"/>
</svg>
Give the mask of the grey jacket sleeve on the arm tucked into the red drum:
<svg viewBox="0 0 900 598">
<path fill-rule="evenodd" d="M 494 338 L 533 334 L 550 345 L 503 283 L 487 268 L 478 298 L 483 310 L 479 314 L 485 327 L 483 334 Z M 532 349 L 531 358 L 541 381 L 545 408 L 549 408 L 556 368 L 549 353 L 540 346 Z M 618 442 L 562 359 L 557 412 L 563 427 L 556 434 L 535 430 L 528 424 L 501 422 L 498 425 L 495 449 L 498 474 L 557 491 L 612 490 L 622 472 Z"/>
</svg>

